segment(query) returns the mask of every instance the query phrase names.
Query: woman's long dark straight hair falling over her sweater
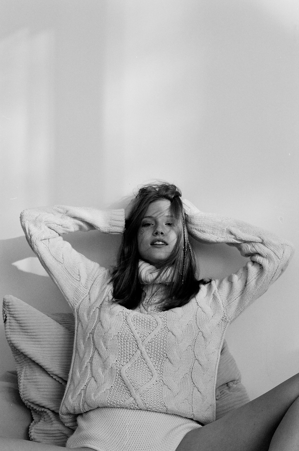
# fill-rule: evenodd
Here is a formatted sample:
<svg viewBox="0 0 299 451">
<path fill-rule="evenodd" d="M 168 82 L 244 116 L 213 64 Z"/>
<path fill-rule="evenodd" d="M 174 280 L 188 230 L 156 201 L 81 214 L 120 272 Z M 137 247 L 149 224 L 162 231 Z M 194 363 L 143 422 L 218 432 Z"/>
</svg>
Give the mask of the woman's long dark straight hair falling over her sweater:
<svg viewBox="0 0 299 451">
<path fill-rule="evenodd" d="M 138 242 L 137 235 L 143 216 L 150 203 L 156 200 L 170 201 L 170 212 L 175 218 L 177 241 L 170 256 L 159 265 L 157 277 L 172 267 L 170 283 L 163 286 L 163 310 L 180 307 L 198 293 L 201 283 L 196 278 L 197 265 L 193 250 L 189 244 L 184 208 L 180 199 L 181 191 L 173 184 L 150 184 L 139 189 L 136 202 L 129 219 L 120 246 L 117 266 L 112 271 L 113 300 L 126 308 L 138 306 L 142 300 L 143 290 L 138 277 Z"/>
</svg>

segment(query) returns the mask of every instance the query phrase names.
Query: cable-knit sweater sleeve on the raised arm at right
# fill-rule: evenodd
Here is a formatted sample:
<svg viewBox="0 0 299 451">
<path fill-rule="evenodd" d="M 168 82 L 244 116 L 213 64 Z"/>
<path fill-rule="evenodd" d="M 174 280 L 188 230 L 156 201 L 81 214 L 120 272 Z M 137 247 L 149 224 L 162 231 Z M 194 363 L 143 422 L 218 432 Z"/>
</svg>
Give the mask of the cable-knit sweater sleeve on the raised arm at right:
<svg viewBox="0 0 299 451">
<path fill-rule="evenodd" d="M 290 242 L 243 221 L 200 212 L 184 200 L 190 235 L 206 243 L 235 246 L 250 261 L 235 274 L 216 280 L 216 292 L 226 314 L 233 321 L 253 300 L 258 299 L 281 275 L 293 254 Z"/>
</svg>

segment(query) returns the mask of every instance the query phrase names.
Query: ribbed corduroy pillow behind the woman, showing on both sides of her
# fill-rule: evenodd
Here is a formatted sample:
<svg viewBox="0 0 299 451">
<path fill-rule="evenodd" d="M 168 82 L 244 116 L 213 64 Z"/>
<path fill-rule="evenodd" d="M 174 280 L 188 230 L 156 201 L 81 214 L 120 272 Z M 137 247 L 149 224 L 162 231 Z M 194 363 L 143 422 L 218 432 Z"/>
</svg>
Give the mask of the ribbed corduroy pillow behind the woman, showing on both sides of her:
<svg viewBox="0 0 299 451">
<path fill-rule="evenodd" d="M 5 335 L 14 355 L 21 399 L 31 410 L 32 441 L 65 446 L 74 432 L 59 418 L 73 354 L 74 317 L 51 318 L 20 299 L 3 299 Z M 216 419 L 249 401 L 241 374 L 224 342 L 216 381 Z"/>
</svg>

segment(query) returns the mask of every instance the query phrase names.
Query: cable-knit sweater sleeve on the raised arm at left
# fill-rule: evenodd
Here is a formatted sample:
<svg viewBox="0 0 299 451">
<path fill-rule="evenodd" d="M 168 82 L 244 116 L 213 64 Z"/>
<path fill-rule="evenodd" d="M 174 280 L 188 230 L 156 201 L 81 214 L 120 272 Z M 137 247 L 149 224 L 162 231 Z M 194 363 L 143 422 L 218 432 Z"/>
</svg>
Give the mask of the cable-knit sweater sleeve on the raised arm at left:
<svg viewBox="0 0 299 451">
<path fill-rule="evenodd" d="M 24 210 L 20 220 L 33 252 L 73 308 L 106 270 L 74 250 L 61 235 L 79 230 L 97 229 L 105 233 L 124 230 L 124 210 L 44 207 Z"/>
</svg>

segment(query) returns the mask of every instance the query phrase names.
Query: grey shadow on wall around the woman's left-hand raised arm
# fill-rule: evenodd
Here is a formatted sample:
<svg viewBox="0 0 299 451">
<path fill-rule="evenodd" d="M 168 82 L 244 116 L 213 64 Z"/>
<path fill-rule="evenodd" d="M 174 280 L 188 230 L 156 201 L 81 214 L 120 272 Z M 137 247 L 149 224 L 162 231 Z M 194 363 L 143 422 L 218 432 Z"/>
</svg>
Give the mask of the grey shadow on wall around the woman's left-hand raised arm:
<svg viewBox="0 0 299 451">
<path fill-rule="evenodd" d="M 78 252 L 104 267 L 114 264 L 120 245 L 120 235 L 103 235 L 96 230 L 88 233 L 69 234 L 64 236 L 64 239 L 69 241 Z M 30 249 L 24 236 L 0 241 L 0 253 L 3 258 L 1 263 L 2 297 L 6 294 L 14 295 L 45 313 L 69 310 L 63 295 L 50 277 L 39 275 L 43 274 L 40 263 L 37 265 L 34 262 L 30 265 L 30 262 L 27 261 L 27 269 L 25 268 L 24 260 L 35 259 L 36 255 Z M 32 272 L 30 266 L 33 268 Z M 38 266 L 40 271 L 38 271 Z"/>
</svg>

